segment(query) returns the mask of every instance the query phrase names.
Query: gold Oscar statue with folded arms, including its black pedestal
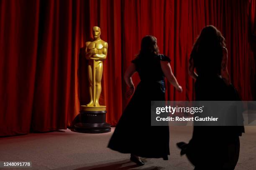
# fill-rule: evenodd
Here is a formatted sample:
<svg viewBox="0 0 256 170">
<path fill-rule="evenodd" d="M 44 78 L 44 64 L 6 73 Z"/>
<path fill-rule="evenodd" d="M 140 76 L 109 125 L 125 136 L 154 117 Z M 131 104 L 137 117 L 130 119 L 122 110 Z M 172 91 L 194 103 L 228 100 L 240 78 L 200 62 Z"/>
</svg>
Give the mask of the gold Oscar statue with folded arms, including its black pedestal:
<svg viewBox="0 0 256 170">
<path fill-rule="evenodd" d="M 100 105 L 103 60 L 107 57 L 108 43 L 100 39 L 100 27 L 92 27 L 93 40 L 85 43 L 85 57 L 88 60 L 90 102 L 81 105 L 81 122 L 74 125 L 82 133 L 107 133 L 111 131 L 106 123 L 106 106 Z"/>
</svg>

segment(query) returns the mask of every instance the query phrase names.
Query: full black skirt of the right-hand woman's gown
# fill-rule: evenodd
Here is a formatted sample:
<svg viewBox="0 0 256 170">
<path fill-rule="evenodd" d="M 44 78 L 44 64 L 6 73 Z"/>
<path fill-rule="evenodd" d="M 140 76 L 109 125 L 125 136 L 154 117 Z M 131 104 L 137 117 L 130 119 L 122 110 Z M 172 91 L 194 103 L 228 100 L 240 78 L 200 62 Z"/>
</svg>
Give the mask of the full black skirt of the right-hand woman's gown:
<svg viewBox="0 0 256 170">
<path fill-rule="evenodd" d="M 239 100 L 233 85 L 226 85 L 218 75 L 199 75 L 195 82 L 195 97 L 199 101 Z M 195 170 L 233 170 L 239 157 L 239 136 L 243 126 L 194 126 L 188 144 L 178 143 Z"/>
</svg>

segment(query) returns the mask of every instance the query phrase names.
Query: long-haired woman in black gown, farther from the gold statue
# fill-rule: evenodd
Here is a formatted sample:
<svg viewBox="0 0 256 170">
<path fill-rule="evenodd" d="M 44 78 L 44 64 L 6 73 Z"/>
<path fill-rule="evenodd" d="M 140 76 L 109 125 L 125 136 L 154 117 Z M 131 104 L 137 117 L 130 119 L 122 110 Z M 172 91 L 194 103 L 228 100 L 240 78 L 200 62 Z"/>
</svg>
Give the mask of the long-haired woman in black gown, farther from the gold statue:
<svg viewBox="0 0 256 170">
<path fill-rule="evenodd" d="M 240 100 L 230 83 L 228 51 L 220 31 L 209 25 L 202 29 L 192 49 L 189 73 L 195 81 L 195 99 L 199 101 Z M 194 68 L 196 72 L 194 72 Z M 239 136 L 243 126 L 194 126 L 188 144 L 177 143 L 195 170 L 233 170 L 239 157 Z"/>
</svg>

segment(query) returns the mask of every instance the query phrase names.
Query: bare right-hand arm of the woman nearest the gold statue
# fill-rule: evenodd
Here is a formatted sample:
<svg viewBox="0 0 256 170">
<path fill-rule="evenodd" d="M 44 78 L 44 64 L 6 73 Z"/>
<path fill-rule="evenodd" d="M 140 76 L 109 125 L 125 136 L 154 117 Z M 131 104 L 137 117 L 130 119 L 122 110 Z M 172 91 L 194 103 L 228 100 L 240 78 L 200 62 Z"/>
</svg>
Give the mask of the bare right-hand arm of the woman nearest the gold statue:
<svg viewBox="0 0 256 170">
<path fill-rule="evenodd" d="M 168 61 L 161 61 L 161 68 L 167 80 L 178 90 L 178 92 L 182 92 L 182 87 L 179 85 L 176 77 L 172 73 L 172 67 L 170 63 Z"/>
</svg>

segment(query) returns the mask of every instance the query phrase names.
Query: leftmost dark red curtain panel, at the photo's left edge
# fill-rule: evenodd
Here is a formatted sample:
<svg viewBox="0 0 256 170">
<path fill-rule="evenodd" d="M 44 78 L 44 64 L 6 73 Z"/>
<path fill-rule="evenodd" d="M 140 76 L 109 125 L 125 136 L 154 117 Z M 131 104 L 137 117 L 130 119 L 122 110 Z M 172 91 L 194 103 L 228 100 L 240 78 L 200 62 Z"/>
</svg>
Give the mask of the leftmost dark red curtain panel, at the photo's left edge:
<svg viewBox="0 0 256 170">
<path fill-rule="evenodd" d="M 30 131 L 39 1 L 0 1 L 0 136 Z"/>
</svg>

